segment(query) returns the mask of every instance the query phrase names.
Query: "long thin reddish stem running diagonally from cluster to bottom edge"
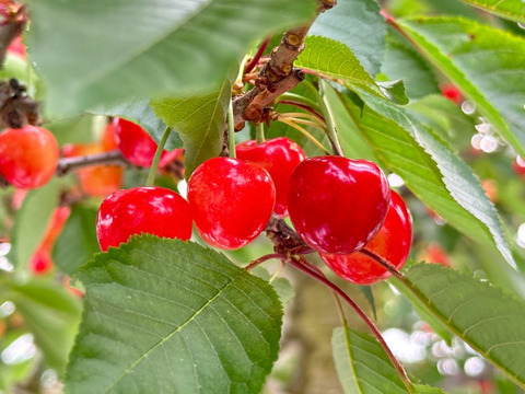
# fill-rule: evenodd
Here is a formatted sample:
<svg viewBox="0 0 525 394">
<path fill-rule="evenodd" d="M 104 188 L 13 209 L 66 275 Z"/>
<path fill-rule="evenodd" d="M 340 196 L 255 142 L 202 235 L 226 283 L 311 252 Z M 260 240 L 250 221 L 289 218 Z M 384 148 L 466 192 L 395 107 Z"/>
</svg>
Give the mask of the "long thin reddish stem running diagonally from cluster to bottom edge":
<svg viewBox="0 0 525 394">
<path fill-rule="evenodd" d="M 332 291 L 335 291 L 339 297 L 341 297 L 357 313 L 358 315 L 363 320 L 363 322 L 369 326 L 369 328 L 372 331 L 374 334 L 375 338 L 377 341 L 381 344 L 383 349 L 385 350 L 386 355 L 390 359 L 392 363 L 394 364 L 394 368 L 396 369 L 397 373 L 399 374 L 399 378 L 401 379 L 402 383 L 407 387 L 409 393 L 413 393 L 413 387 L 412 383 L 410 382 L 410 379 L 407 375 L 407 372 L 405 371 L 405 368 L 399 363 L 399 361 L 396 359 L 394 354 L 392 352 L 390 348 L 385 341 L 385 338 L 383 338 L 383 335 L 381 334 L 380 329 L 375 326 L 374 322 L 364 313 L 364 311 L 345 292 L 342 291 L 337 285 L 332 283 L 329 281 L 323 274 L 317 273 L 315 269 L 312 269 L 310 267 L 310 264 L 302 257 L 299 257 L 299 259 L 290 258 L 288 260 L 290 265 L 294 268 L 298 268 L 299 270 L 303 271 L 304 274 L 308 275 L 310 277 L 318 280 L 323 285 L 329 287 Z"/>
</svg>

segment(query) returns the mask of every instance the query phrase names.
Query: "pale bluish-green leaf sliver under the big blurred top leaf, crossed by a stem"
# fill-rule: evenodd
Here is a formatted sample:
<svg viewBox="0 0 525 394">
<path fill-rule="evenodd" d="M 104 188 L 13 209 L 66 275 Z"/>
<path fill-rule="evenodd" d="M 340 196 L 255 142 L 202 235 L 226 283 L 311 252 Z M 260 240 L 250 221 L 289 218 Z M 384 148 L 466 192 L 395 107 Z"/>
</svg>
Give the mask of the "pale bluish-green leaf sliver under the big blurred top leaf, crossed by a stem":
<svg viewBox="0 0 525 394">
<path fill-rule="evenodd" d="M 166 129 L 166 124 L 156 117 L 153 108 L 150 106 L 150 100 L 135 99 L 120 104 L 97 106 L 90 112 L 98 115 L 118 116 L 135 121 L 142 126 L 156 143 L 160 142 L 162 135 Z M 182 146 L 183 141 L 180 141 L 178 135 L 172 131 L 164 148 L 167 150 L 174 150 Z"/>
</svg>

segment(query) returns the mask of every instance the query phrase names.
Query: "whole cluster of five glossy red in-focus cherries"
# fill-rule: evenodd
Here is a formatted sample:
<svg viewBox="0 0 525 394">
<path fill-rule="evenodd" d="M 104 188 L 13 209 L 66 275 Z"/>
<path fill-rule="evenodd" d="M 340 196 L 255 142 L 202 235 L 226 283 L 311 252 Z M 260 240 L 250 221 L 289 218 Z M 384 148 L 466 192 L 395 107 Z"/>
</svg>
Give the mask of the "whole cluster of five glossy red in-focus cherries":
<svg viewBox="0 0 525 394">
<path fill-rule="evenodd" d="M 290 219 L 301 237 L 340 277 L 372 283 L 388 276 L 363 247 L 400 268 L 411 244 L 411 218 L 380 167 L 341 157 L 306 159 L 288 138 L 236 147 L 191 174 L 187 200 L 161 187 L 118 190 L 101 205 L 101 248 L 151 233 L 189 240 L 192 222 L 210 245 L 235 250 L 265 229 L 271 212 Z"/>
</svg>

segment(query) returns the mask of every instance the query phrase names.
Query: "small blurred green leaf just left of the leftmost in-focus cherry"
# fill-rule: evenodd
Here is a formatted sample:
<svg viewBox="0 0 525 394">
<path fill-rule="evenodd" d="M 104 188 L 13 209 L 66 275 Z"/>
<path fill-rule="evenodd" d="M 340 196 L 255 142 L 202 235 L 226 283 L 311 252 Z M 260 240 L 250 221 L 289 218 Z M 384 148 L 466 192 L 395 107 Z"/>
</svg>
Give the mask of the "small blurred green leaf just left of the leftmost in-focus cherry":
<svg viewBox="0 0 525 394">
<path fill-rule="evenodd" d="M 96 207 L 74 205 L 66 225 L 55 242 L 52 259 L 62 273 L 72 275 L 100 252 L 95 225 Z"/>
</svg>

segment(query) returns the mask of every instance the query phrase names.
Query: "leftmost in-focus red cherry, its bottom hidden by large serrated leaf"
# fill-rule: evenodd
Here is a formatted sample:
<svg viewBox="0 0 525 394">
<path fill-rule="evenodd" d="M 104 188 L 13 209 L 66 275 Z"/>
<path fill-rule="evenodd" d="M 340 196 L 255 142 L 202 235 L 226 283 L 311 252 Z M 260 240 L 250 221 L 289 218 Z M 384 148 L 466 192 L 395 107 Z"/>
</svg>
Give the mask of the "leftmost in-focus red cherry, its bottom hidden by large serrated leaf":
<svg viewBox="0 0 525 394">
<path fill-rule="evenodd" d="M 102 201 L 96 236 L 102 251 L 141 233 L 187 241 L 191 222 L 189 205 L 180 195 L 163 187 L 135 187 Z"/>
</svg>

